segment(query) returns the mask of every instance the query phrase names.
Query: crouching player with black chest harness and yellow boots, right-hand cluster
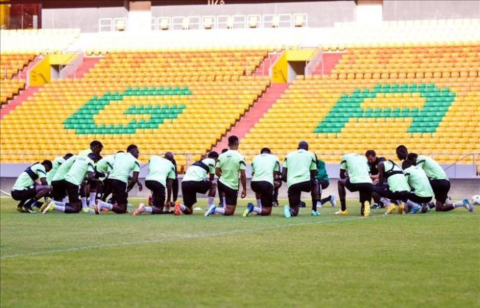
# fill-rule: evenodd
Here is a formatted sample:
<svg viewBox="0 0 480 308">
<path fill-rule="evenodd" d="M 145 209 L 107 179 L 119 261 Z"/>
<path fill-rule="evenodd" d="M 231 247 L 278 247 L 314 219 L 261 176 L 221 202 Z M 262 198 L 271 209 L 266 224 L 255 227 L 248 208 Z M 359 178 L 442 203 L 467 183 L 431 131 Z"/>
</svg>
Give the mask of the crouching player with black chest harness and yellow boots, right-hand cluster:
<svg viewBox="0 0 480 308">
<path fill-rule="evenodd" d="M 396 209 L 393 201 L 400 201 L 398 214 L 403 214 L 403 203 L 407 202 L 410 186 L 403 174 L 402 168 L 392 160 L 380 162 L 378 165 L 379 181 L 373 187 L 373 192 L 381 196 L 381 203 L 387 206 L 385 214 L 392 214 Z M 387 180 L 387 185 L 383 181 Z"/>
</svg>

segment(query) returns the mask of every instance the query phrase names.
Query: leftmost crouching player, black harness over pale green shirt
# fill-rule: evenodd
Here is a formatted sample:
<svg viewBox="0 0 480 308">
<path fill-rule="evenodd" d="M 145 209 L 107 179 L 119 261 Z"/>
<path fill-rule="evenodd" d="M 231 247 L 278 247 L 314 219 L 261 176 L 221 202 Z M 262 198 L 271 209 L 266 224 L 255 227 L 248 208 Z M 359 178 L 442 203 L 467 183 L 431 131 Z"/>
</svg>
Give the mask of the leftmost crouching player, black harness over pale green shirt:
<svg viewBox="0 0 480 308">
<path fill-rule="evenodd" d="M 36 205 L 38 199 L 49 194 L 51 187 L 47 183 L 47 172 L 50 170 L 51 162 L 46 159 L 41 164 L 29 166 L 16 179 L 12 188 L 12 198 L 20 201 L 16 206 L 17 211 L 33 213 L 32 205 Z M 37 180 L 40 181 L 40 185 Z"/>
</svg>

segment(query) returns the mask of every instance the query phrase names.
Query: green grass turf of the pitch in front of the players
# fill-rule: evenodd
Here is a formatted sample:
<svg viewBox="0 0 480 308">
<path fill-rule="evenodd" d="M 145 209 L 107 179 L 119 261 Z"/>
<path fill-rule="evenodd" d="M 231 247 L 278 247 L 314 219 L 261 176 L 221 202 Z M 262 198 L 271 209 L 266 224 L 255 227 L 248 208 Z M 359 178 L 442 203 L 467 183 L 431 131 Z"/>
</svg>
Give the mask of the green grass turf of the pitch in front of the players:
<svg viewBox="0 0 480 308">
<path fill-rule="evenodd" d="M 42 215 L 1 198 L 1 307 L 480 305 L 479 208 L 241 218 L 245 204 L 234 217 Z"/>
</svg>

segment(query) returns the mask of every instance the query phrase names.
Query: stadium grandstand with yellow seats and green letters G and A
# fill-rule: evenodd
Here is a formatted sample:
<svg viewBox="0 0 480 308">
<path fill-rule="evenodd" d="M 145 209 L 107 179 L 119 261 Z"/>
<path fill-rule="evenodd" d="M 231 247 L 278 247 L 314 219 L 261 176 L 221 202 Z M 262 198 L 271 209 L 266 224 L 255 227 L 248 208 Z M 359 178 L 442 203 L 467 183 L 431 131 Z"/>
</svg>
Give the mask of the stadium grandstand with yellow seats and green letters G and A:
<svg viewBox="0 0 480 308">
<path fill-rule="evenodd" d="M 104 153 L 135 141 L 142 162 L 173 151 L 185 170 L 237 134 L 248 162 L 309 140 L 335 169 L 406 144 L 478 174 L 475 1 L 33 2 L 2 5 L 2 164 L 97 138 Z"/>
</svg>

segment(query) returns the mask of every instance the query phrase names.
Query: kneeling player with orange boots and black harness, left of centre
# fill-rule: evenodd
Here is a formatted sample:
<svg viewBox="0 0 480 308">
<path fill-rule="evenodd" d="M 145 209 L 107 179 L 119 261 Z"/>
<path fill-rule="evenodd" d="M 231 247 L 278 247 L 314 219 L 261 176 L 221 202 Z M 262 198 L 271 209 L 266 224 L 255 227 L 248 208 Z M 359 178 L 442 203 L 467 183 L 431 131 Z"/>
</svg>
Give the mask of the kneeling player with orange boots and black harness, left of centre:
<svg viewBox="0 0 480 308">
<path fill-rule="evenodd" d="M 215 178 L 215 164 L 217 164 L 218 153 L 211 151 L 205 159 L 193 163 L 185 173 L 182 181 L 182 195 L 184 204 L 176 201 L 173 211 L 175 215 L 192 214 L 193 205 L 197 203 L 197 193 L 206 194 L 208 192 L 208 205 L 214 205 L 215 194 L 217 193 L 217 183 Z"/>
</svg>

